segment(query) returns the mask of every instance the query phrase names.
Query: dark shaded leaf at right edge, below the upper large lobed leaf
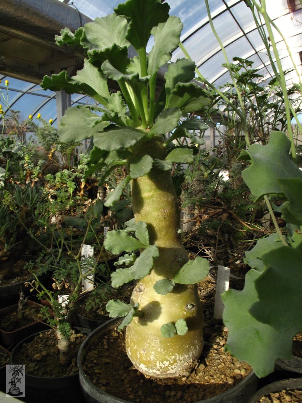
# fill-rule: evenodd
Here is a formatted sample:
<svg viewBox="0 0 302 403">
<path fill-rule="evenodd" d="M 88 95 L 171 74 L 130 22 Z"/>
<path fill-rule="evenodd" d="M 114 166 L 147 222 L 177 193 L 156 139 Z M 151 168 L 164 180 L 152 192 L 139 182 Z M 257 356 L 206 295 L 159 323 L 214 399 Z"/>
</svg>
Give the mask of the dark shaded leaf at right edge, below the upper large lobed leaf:
<svg viewBox="0 0 302 403">
<path fill-rule="evenodd" d="M 278 179 L 278 183 L 288 199 L 281 206 L 284 220 L 302 225 L 302 178 Z"/>
</svg>

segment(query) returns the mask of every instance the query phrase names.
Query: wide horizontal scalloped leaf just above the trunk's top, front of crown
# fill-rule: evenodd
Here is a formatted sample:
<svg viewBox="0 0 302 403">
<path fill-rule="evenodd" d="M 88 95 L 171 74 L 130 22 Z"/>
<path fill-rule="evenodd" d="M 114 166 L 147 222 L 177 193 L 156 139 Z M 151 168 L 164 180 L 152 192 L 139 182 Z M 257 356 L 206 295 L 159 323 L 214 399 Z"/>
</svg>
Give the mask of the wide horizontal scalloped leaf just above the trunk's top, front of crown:
<svg viewBox="0 0 302 403">
<path fill-rule="evenodd" d="M 131 147 L 145 135 L 146 133 L 134 129 L 134 127 L 110 125 L 103 133 L 95 133 L 93 142 L 101 150 L 114 151 L 119 148 Z"/>
</svg>

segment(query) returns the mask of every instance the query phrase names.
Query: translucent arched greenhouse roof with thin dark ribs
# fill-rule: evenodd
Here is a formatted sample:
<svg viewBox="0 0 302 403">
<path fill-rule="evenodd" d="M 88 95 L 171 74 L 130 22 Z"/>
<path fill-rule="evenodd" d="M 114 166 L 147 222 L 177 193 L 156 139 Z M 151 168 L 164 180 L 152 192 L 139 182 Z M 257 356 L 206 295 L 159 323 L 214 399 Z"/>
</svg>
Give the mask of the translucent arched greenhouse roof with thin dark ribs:
<svg viewBox="0 0 302 403">
<path fill-rule="evenodd" d="M 87 16 L 88 18 L 85 21 L 112 13 L 113 8 L 121 2 L 121 0 L 111 0 L 110 2 L 103 0 L 61 1 L 62 4 L 66 4 L 70 12 L 79 12 Z M 36 3 L 34 0 L 21 0 L 21 2 L 10 0 L 10 2 L 16 3 L 16 7 L 22 2 Z M 59 0 L 51 0 L 50 2 L 59 3 Z M 254 62 L 253 68 L 260 69 L 259 73 L 263 75 L 265 82 L 269 82 L 274 76 L 267 49 L 256 29 L 256 23 L 250 8 L 246 5 L 246 1 L 209 0 L 209 11 L 216 36 L 211 28 L 206 2 L 204 0 L 190 0 L 189 2 L 187 0 L 161 0 L 161 2 L 166 2 L 170 5 L 170 15 L 176 15 L 182 20 L 184 27 L 181 34 L 181 41 L 192 60 L 196 63 L 201 74 L 210 83 L 219 86 L 230 80 L 228 70 L 223 66 L 223 63 L 225 63 L 225 55 L 230 62 L 232 62 L 234 57 L 245 58 Z M 1 3 L 2 0 L 0 1 L 0 4 Z M 2 4 L 4 4 L 4 2 Z M 300 75 L 302 73 L 301 2 L 300 0 L 266 0 L 266 7 L 271 20 L 273 20 L 275 26 L 279 28 L 283 34 Z M 3 10 L 4 6 L 1 6 L 0 17 Z M 49 18 L 50 15 L 51 10 L 47 10 L 46 18 Z M 80 14 L 78 15 L 80 16 Z M 79 24 L 81 20 L 83 21 L 82 17 L 79 18 Z M 64 22 L 65 21 L 61 21 L 62 24 L 64 24 Z M 43 21 L 41 21 L 41 24 L 43 25 Z M 68 25 L 68 19 L 66 19 L 65 25 Z M 3 33 L 1 27 L 0 33 Z M 59 32 L 55 32 L 54 30 L 54 33 Z M 266 38 L 269 38 L 266 29 L 264 29 L 264 35 Z M 293 70 L 290 54 L 277 29 L 273 30 L 273 36 L 277 43 L 282 69 L 292 70 L 286 75 L 287 84 L 290 86 L 298 82 L 297 73 Z M 223 44 L 225 55 L 223 50 L 221 50 L 219 41 Z M 151 46 L 152 41 L 149 43 L 149 49 L 151 49 Z M 0 42 L 0 53 L 5 53 L 3 40 Z M 51 58 L 52 55 L 53 53 L 50 52 L 49 57 Z M 69 55 L 68 57 L 72 59 L 73 56 L 74 55 Z M 18 57 L 18 54 L 14 54 L 15 60 L 18 60 Z M 182 50 L 177 48 L 173 52 L 172 61 L 182 57 L 184 57 Z M 49 66 L 50 64 L 48 64 L 48 68 L 50 68 Z M 58 69 L 58 66 L 56 66 L 56 69 Z M 53 72 L 55 72 L 56 69 L 54 68 Z M 37 78 L 29 80 L 32 81 L 32 83 L 22 81 L 20 79 L 23 78 L 21 74 L 13 73 L 13 69 L 11 71 L 11 75 L 9 75 L 9 71 L 4 72 L 0 62 L 0 79 L 2 80 L 0 87 L 4 95 L 7 94 L 8 102 L 12 110 L 19 110 L 21 119 L 27 118 L 29 114 L 35 115 L 41 113 L 45 120 L 50 118 L 55 120 L 56 93 L 41 89 L 39 85 L 37 85 Z M 1 74 L 1 72 L 3 74 Z M 46 73 L 48 74 L 49 71 L 46 70 Z M 9 81 L 8 87 L 4 84 L 5 80 Z M 74 102 L 86 103 L 89 102 L 89 100 L 86 96 L 74 94 L 74 96 L 72 96 L 72 103 Z"/>
</svg>

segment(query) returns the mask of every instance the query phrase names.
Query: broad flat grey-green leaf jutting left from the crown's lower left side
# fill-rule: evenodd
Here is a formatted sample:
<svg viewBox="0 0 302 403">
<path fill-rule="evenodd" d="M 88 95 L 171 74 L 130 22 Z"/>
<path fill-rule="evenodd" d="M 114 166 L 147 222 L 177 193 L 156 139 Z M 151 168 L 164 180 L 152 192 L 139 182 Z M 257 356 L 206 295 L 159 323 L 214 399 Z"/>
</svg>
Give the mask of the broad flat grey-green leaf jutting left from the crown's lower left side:
<svg viewBox="0 0 302 403">
<path fill-rule="evenodd" d="M 88 127 L 85 124 L 85 118 L 97 118 L 97 116 L 87 108 L 68 108 L 60 120 L 60 141 L 62 143 L 82 141 L 93 137 L 109 125 L 108 122 L 100 122 L 94 127 Z"/>
</svg>

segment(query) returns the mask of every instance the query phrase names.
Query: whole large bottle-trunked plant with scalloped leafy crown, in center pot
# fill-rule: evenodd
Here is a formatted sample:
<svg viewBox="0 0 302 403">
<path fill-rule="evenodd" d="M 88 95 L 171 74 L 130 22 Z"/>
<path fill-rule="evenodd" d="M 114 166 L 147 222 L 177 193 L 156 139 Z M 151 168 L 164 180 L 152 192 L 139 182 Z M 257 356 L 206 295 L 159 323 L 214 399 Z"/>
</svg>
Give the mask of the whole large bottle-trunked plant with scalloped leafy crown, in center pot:
<svg viewBox="0 0 302 403">
<path fill-rule="evenodd" d="M 113 253 L 141 250 L 135 261 L 133 253 L 126 254 L 128 266 L 112 274 L 114 287 L 138 282 L 130 305 L 111 301 L 108 310 L 112 317 L 125 316 L 120 327 L 128 325 L 126 350 L 134 366 L 159 378 L 179 376 L 201 353 L 203 313 L 196 283 L 209 270 L 202 258 L 188 262 L 170 168 L 173 162 L 192 161 L 196 150 L 176 147 L 172 140 L 205 128 L 198 119 L 180 123 L 180 118 L 207 108 L 211 98 L 190 82 L 194 62 L 183 58 L 168 63 L 182 30 L 169 8 L 159 0 L 128 0 L 75 33 L 63 29 L 57 44 L 83 48 L 84 67 L 73 77 L 62 71 L 42 83 L 44 89 L 85 93 L 101 104 L 69 108 L 60 121 L 62 142 L 93 138 L 86 175 L 102 167 L 108 167 L 107 173 L 128 168 L 105 205 L 114 205 L 130 182 L 135 220 L 124 231 L 110 231 L 105 247 Z M 154 45 L 147 55 L 151 35 Z M 133 58 L 128 58 L 130 45 L 137 52 Z M 165 85 L 157 97 L 157 73 L 166 63 Z M 118 91 L 110 92 L 108 79 Z M 165 137 L 172 131 L 172 137 Z"/>
</svg>

